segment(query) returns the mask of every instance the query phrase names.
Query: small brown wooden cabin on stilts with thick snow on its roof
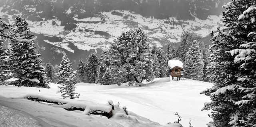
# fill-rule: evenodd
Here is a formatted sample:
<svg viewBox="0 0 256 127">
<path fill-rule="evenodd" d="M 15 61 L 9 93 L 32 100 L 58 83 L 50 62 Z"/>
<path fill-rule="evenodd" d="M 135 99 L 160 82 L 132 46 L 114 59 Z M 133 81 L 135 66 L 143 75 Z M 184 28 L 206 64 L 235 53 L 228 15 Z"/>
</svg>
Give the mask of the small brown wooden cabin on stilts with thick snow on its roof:
<svg viewBox="0 0 256 127">
<path fill-rule="evenodd" d="M 180 78 L 184 76 L 185 73 L 183 69 L 183 63 L 179 60 L 169 60 L 166 71 L 169 75 L 172 76 L 172 79 L 177 77 L 177 80 L 180 80 Z"/>
</svg>

